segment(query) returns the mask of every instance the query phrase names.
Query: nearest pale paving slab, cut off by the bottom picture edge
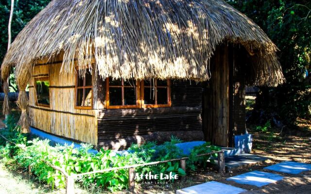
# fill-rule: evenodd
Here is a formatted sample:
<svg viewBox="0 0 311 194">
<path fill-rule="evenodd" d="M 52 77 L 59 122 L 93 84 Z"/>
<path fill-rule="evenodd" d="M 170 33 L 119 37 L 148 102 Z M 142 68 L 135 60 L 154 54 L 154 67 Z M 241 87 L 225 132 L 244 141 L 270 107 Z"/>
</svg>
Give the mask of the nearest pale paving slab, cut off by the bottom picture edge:
<svg viewBox="0 0 311 194">
<path fill-rule="evenodd" d="M 176 194 L 240 194 L 245 191 L 247 190 L 216 181 L 210 181 L 177 190 Z"/>
</svg>

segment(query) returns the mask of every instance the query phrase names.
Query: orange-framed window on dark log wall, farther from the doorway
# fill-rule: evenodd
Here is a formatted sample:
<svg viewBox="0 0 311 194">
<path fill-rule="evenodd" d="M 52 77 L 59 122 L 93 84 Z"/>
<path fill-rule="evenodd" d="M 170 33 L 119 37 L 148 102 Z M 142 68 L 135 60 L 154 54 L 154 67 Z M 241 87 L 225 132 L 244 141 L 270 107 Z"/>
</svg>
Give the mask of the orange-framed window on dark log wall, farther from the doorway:
<svg viewBox="0 0 311 194">
<path fill-rule="evenodd" d="M 106 107 L 108 109 L 139 108 L 139 89 L 136 80 L 106 79 Z"/>
</svg>

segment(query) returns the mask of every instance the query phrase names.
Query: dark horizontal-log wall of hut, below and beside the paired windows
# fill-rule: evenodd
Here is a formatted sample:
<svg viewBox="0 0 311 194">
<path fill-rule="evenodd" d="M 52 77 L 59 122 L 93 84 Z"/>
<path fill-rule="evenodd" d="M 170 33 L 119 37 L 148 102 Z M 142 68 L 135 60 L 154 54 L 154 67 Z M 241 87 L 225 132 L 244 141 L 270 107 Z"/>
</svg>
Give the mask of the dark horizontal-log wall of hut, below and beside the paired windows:
<svg viewBox="0 0 311 194">
<path fill-rule="evenodd" d="M 103 97 L 105 84 L 99 85 Z M 169 141 L 172 135 L 203 140 L 201 113 L 202 84 L 171 80 L 171 107 L 98 110 L 98 146 L 124 149 L 132 143 Z"/>
</svg>

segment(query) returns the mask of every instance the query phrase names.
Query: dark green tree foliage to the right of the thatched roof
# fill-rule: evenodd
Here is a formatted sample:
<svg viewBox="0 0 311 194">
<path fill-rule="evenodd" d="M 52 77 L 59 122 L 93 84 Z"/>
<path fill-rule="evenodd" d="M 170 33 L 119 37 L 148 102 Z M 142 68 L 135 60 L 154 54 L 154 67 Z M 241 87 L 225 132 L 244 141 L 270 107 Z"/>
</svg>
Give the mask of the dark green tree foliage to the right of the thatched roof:
<svg viewBox="0 0 311 194">
<path fill-rule="evenodd" d="M 259 24 L 280 49 L 278 56 L 286 83 L 277 88 L 260 88 L 255 119 L 262 112 L 276 112 L 286 124 L 293 124 L 297 117 L 311 118 L 311 1 L 227 2 Z"/>
</svg>

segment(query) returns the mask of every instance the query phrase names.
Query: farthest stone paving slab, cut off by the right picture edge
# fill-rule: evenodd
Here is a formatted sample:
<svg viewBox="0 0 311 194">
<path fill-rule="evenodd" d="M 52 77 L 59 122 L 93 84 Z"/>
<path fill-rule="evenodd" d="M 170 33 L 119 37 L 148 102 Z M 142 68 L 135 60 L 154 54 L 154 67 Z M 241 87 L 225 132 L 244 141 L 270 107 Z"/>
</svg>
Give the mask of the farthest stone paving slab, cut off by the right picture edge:
<svg viewBox="0 0 311 194">
<path fill-rule="evenodd" d="M 297 175 L 303 171 L 311 170 L 311 164 L 286 161 L 265 167 L 264 169 Z"/>
</svg>

